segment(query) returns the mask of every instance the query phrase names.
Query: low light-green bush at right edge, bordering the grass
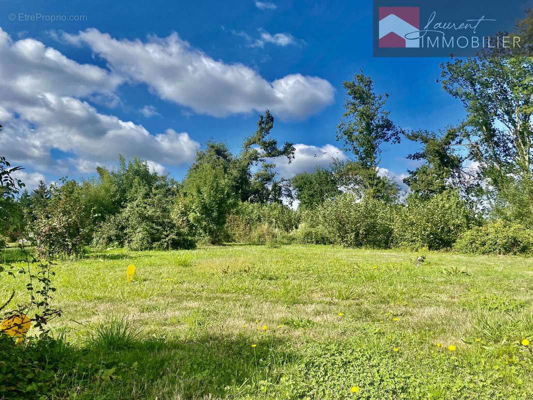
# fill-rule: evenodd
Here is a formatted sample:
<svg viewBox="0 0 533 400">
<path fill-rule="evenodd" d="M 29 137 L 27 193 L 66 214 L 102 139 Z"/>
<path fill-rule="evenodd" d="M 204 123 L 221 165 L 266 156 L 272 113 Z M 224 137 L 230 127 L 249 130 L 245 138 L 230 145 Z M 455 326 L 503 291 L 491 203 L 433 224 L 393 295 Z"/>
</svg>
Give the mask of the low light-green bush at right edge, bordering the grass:
<svg viewBox="0 0 533 400">
<path fill-rule="evenodd" d="M 533 230 L 503 220 L 489 222 L 464 232 L 454 250 L 473 254 L 528 254 L 533 252 Z"/>
</svg>

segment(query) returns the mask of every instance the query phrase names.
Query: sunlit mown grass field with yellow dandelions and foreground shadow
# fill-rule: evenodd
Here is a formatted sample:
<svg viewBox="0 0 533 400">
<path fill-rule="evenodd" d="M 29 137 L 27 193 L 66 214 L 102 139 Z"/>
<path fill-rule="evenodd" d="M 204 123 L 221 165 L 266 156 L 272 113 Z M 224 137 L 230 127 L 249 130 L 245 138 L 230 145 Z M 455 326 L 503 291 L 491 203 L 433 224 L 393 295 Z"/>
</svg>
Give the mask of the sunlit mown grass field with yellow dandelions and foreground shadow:
<svg viewBox="0 0 533 400">
<path fill-rule="evenodd" d="M 533 398 L 533 259 L 425 255 L 230 245 L 60 261 L 52 326 L 77 364 L 62 382 L 70 399 Z"/>
</svg>

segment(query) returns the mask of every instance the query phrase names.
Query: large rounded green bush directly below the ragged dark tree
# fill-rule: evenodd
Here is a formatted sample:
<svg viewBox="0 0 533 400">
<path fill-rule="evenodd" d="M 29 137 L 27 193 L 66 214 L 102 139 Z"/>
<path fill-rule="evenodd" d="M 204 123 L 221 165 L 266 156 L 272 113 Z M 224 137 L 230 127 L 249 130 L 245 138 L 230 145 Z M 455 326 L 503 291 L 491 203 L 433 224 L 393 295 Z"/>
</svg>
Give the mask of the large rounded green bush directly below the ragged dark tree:
<svg viewBox="0 0 533 400">
<path fill-rule="evenodd" d="M 473 213 L 454 191 L 429 198 L 411 194 L 396 213 L 393 241 L 414 249 L 448 249 L 473 222 Z"/>
</svg>

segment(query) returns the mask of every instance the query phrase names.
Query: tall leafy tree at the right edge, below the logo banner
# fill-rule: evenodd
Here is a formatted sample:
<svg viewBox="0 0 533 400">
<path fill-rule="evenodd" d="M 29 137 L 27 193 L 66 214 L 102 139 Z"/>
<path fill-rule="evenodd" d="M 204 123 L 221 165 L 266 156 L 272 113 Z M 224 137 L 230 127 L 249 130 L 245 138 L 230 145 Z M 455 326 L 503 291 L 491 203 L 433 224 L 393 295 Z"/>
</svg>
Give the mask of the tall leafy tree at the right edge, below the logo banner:
<svg viewBox="0 0 533 400">
<path fill-rule="evenodd" d="M 497 214 L 533 221 L 533 59 L 456 59 L 441 67 L 443 89 L 467 113 L 458 145 L 478 165 L 478 195 Z"/>
</svg>

